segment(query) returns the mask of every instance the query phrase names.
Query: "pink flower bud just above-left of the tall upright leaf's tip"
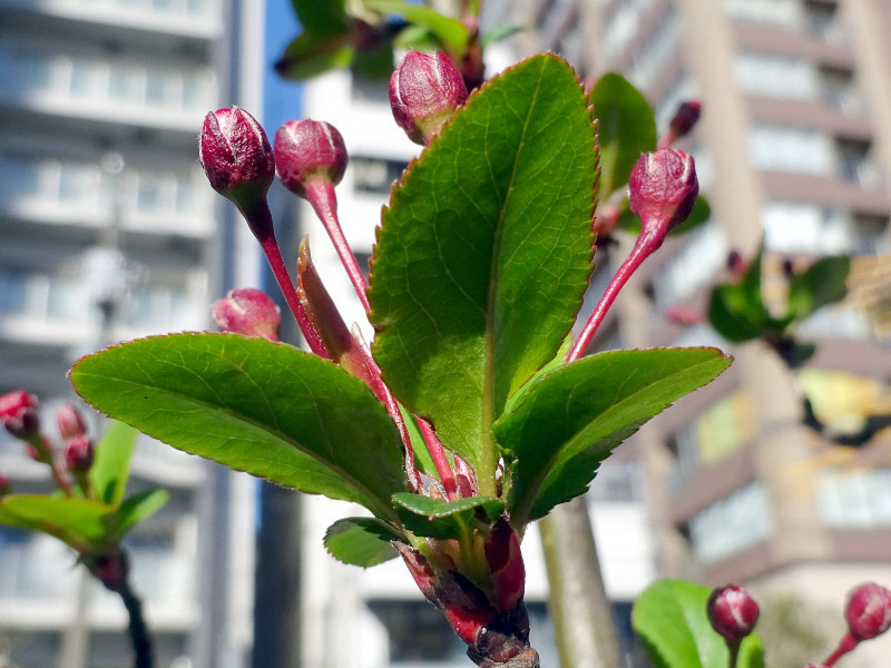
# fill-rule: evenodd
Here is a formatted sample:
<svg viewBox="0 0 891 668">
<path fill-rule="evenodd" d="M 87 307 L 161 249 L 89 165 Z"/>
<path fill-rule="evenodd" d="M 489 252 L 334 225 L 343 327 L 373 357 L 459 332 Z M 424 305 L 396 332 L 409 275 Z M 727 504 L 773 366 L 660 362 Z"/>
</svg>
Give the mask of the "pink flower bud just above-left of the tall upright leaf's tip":
<svg viewBox="0 0 891 668">
<path fill-rule="evenodd" d="M 439 51 L 409 52 L 390 77 L 393 118 L 415 144 L 429 145 L 466 101 L 461 72 Z"/>
</svg>

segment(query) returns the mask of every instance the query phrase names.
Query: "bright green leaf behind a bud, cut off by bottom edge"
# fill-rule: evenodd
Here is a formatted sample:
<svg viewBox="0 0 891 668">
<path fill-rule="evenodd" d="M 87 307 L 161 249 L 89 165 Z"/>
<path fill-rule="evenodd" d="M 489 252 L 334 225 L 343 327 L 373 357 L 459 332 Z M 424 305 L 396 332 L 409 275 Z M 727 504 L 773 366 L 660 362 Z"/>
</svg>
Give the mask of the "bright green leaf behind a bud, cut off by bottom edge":
<svg viewBox="0 0 891 668">
<path fill-rule="evenodd" d="M 726 668 L 730 651 L 712 628 L 706 606 L 711 590 L 683 580 L 659 580 L 638 597 L 631 623 L 657 668 Z M 740 646 L 737 668 L 764 668 L 755 633 Z"/>
</svg>

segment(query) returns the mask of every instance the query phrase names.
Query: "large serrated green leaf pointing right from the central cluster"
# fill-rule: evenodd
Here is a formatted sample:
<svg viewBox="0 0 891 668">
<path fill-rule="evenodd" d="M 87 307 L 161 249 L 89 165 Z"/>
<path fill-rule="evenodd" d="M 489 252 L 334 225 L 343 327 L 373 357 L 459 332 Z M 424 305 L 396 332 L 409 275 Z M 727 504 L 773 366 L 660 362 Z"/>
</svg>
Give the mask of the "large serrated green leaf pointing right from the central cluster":
<svg viewBox="0 0 891 668">
<path fill-rule="evenodd" d="M 611 351 L 544 376 L 495 425 L 510 471 L 513 524 L 585 493 L 616 445 L 730 363 L 715 348 Z"/>
</svg>

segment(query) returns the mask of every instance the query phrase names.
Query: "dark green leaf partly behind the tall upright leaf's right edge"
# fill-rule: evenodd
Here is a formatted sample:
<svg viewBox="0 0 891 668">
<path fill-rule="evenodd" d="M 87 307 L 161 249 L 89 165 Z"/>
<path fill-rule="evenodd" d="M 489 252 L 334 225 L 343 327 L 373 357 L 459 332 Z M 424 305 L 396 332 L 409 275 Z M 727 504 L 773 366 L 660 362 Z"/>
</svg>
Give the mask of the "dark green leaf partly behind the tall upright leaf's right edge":
<svg viewBox="0 0 891 668">
<path fill-rule="evenodd" d="M 643 95 L 624 77 L 608 72 L 591 90 L 600 145 L 600 195 L 606 199 L 628 183 L 640 154 L 656 149 L 656 120 Z"/>
</svg>

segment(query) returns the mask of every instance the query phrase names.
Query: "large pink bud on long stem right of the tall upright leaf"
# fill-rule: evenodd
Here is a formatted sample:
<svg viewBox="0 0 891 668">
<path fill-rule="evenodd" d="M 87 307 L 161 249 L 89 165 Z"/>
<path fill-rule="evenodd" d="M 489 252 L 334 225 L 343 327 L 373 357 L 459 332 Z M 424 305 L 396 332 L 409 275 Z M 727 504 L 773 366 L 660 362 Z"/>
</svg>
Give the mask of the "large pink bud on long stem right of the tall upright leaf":
<svg viewBox="0 0 891 668">
<path fill-rule="evenodd" d="M 664 238 L 696 204 L 699 183 L 693 158 L 675 148 L 644 154 L 631 169 L 628 193 L 631 213 L 640 218 L 640 234 Z"/>
</svg>

